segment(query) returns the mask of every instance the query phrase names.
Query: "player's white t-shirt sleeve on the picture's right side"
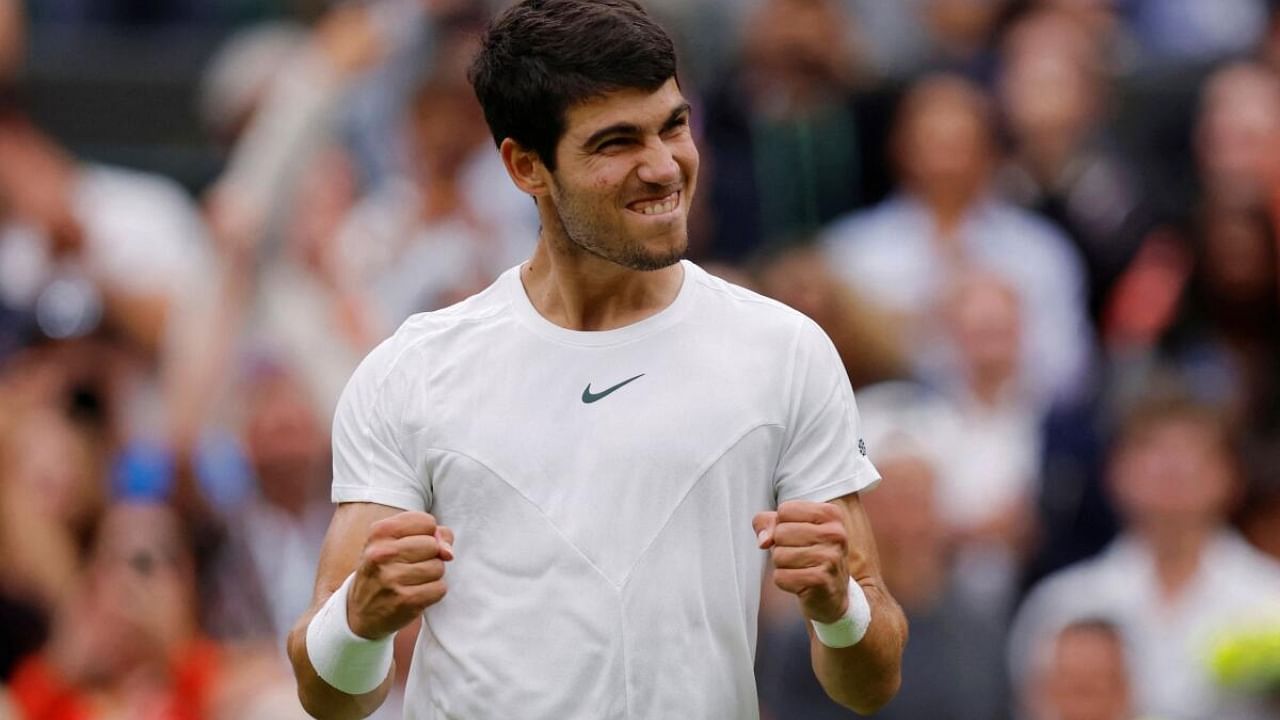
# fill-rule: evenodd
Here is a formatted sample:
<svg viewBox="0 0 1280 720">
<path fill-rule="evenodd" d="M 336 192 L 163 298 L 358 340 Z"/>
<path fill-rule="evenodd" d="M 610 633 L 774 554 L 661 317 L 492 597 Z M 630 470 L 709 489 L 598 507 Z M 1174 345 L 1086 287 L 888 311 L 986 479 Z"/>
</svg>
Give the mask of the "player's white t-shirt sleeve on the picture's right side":
<svg viewBox="0 0 1280 720">
<path fill-rule="evenodd" d="M 826 502 L 868 489 L 879 473 L 867 457 L 849 375 L 826 333 L 805 319 L 796 338 L 777 502 Z"/>
</svg>

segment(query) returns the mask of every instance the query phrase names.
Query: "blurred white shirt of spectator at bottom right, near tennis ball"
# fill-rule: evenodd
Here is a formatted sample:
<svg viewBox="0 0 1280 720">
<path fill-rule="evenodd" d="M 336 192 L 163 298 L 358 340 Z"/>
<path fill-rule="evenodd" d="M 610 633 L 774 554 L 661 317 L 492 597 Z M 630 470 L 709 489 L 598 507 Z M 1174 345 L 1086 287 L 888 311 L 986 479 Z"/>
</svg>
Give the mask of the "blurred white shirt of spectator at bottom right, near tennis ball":
<svg viewBox="0 0 1280 720">
<path fill-rule="evenodd" d="M 1162 597 L 1153 559 L 1138 539 L 1121 537 L 1102 555 L 1050 575 L 1019 610 L 1010 634 L 1018 687 L 1064 626 L 1080 619 L 1115 623 L 1133 662 L 1139 712 L 1167 720 L 1265 720 L 1266 708 L 1228 697 L 1213 685 L 1210 648 L 1219 633 L 1247 629 L 1280 607 L 1280 565 L 1234 533 L 1206 547 L 1181 596 Z"/>
</svg>

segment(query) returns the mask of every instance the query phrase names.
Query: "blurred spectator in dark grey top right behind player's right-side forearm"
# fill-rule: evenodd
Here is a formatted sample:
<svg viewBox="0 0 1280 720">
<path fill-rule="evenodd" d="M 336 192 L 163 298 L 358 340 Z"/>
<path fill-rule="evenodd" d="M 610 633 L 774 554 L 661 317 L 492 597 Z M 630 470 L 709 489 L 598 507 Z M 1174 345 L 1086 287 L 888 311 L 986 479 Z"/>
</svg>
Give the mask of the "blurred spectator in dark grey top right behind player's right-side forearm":
<svg viewBox="0 0 1280 720">
<path fill-rule="evenodd" d="M 902 656 L 902 688 L 876 717 L 1004 717 L 1005 611 L 973 594 L 955 565 L 938 497 L 942 462 L 950 459 L 940 457 L 937 428 L 916 410 L 922 407 L 904 402 L 892 420 L 882 414 L 873 423 L 868 414 L 864 427 L 868 454 L 883 480 L 863 502 L 876 532 L 884 582 L 911 624 L 911 639 Z M 765 588 L 767 596 L 772 592 Z M 764 717 L 847 717 L 847 711 L 824 697 L 808 667 L 803 624 L 794 615 L 777 612 L 777 607 L 767 603 L 762 610 L 764 626 L 756 652 Z"/>
</svg>

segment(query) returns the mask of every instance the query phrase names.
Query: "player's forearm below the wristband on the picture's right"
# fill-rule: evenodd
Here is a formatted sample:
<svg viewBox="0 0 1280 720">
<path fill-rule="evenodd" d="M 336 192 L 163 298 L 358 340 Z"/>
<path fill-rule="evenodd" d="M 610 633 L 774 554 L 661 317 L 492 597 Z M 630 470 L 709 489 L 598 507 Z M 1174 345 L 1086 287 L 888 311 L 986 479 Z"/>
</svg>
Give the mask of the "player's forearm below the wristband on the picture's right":
<svg viewBox="0 0 1280 720">
<path fill-rule="evenodd" d="M 883 584 L 861 579 L 859 585 L 872 607 L 872 623 L 856 644 L 827 647 L 814 635 L 813 625 L 805 625 L 813 670 L 822 688 L 840 705 L 869 715 L 897 693 L 908 630 L 902 609 Z"/>
</svg>

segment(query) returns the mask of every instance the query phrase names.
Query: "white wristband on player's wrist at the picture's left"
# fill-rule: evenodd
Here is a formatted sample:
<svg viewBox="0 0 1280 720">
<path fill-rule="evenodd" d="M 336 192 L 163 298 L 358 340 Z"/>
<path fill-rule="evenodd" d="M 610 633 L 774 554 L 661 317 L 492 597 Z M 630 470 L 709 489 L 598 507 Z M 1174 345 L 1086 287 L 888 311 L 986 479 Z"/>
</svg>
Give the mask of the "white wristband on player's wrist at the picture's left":
<svg viewBox="0 0 1280 720">
<path fill-rule="evenodd" d="M 347 593 L 355 578 L 355 573 L 347 575 L 307 625 L 307 657 L 316 675 L 334 689 L 365 694 L 383 684 L 390 673 L 396 634 L 371 641 L 352 632 L 347 624 Z"/>
</svg>

